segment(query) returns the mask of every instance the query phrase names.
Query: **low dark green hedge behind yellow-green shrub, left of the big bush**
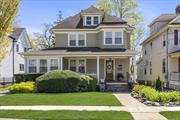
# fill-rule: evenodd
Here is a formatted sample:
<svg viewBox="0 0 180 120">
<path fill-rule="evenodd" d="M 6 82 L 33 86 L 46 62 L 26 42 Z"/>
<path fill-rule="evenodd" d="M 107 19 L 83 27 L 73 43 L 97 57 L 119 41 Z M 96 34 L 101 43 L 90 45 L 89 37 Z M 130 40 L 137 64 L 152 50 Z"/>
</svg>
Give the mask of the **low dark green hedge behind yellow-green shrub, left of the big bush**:
<svg viewBox="0 0 180 120">
<path fill-rule="evenodd" d="M 15 74 L 15 80 L 16 80 L 16 83 L 26 82 L 26 81 L 35 81 L 35 79 L 41 75 L 42 73 Z"/>
</svg>

